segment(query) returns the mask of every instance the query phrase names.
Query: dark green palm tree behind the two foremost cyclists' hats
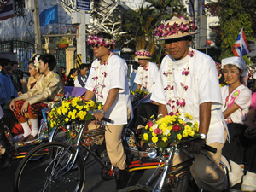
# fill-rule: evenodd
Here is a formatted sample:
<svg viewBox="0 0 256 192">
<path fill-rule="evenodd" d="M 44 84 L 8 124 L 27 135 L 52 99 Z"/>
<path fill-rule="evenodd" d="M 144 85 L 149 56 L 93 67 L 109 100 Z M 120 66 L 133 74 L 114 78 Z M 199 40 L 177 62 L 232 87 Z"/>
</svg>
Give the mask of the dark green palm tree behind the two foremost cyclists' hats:
<svg viewBox="0 0 256 192">
<path fill-rule="evenodd" d="M 137 11 L 128 11 L 123 15 L 123 31 L 125 35 L 124 44 L 129 41 L 137 49 L 148 49 L 153 54 L 152 61 L 159 61 L 163 55 L 164 46 L 162 42 L 156 42 L 154 29 L 160 23 L 169 20 L 173 15 L 183 15 L 184 7 L 179 0 L 148 0 L 149 6 L 143 5 Z M 160 49 L 155 51 L 155 44 L 159 44 Z"/>
</svg>

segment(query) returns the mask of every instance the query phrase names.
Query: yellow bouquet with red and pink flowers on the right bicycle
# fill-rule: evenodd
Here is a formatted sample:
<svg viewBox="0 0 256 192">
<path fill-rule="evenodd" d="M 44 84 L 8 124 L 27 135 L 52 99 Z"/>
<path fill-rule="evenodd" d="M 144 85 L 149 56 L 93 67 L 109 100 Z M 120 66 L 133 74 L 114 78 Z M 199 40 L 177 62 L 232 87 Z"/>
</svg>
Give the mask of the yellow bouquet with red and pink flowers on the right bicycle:
<svg viewBox="0 0 256 192">
<path fill-rule="evenodd" d="M 159 148 L 165 148 L 170 143 L 182 143 L 183 138 L 195 137 L 200 138 L 198 133 L 198 122 L 189 122 L 193 119 L 192 115 L 185 113 L 185 118 L 180 118 L 180 113 L 177 115 L 160 116 L 159 120 L 153 119 L 148 121 L 143 128 L 143 134 L 139 138 L 145 143 L 155 143 Z"/>
</svg>

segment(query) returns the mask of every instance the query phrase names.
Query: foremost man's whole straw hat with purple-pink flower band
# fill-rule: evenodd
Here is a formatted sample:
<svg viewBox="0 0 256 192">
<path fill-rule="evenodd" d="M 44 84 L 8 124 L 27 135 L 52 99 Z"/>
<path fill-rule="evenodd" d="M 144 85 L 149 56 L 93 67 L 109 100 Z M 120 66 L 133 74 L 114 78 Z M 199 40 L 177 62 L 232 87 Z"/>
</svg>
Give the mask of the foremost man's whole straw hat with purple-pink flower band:
<svg viewBox="0 0 256 192">
<path fill-rule="evenodd" d="M 198 26 L 195 26 L 194 21 L 189 21 L 183 17 L 172 17 L 171 20 L 167 20 L 159 27 L 156 27 L 154 34 L 159 37 L 158 40 L 167 40 L 172 38 L 183 38 L 189 35 L 195 35 L 198 32 L 195 30 Z"/>
</svg>

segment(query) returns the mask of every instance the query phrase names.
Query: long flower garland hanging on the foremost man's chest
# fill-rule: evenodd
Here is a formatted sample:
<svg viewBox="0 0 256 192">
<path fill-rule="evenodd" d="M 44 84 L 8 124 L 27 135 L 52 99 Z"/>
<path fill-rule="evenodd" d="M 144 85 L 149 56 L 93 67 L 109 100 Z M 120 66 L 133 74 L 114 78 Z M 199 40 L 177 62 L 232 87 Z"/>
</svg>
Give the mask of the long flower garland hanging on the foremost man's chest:
<svg viewBox="0 0 256 192">
<path fill-rule="evenodd" d="M 190 57 L 193 57 L 194 55 L 194 51 L 189 48 L 189 54 Z M 188 85 L 186 85 L 187 82 L 187 78 L 189 75 L 189 60 L 187 61 L 186 67 L 184 68 L 182 74 L 184 75 L 184 79 L 183 79 L 183 83 L 181 82 L 181 87 L 182 87 L 182 92 L 181 92 L 181 97 L 179 97 L 177 99 L 177 101 L 172 100 L 172 90 L 174 89 L 173 86 L 171 86 L 171 75 L 172 75 L 172 58 L 169 61 L 169 65 L 168 65 L 168 71 L 163 73 L 164 75 L 167 76 L 167 87 L 165 88 L 165 90 L 168 91 L 168 102 L 166 103 L 167 105 L 169 105 L 172 109 L 172 112 L 170 112 L 170 115 L 177 115 L 177 113 L 179 113 L 178 109 L 181 107 L 185 107 L 186 102 L 185 99 L 183 98 L 184 96 L 184 91 L 188 90 Z"/>
</svg>

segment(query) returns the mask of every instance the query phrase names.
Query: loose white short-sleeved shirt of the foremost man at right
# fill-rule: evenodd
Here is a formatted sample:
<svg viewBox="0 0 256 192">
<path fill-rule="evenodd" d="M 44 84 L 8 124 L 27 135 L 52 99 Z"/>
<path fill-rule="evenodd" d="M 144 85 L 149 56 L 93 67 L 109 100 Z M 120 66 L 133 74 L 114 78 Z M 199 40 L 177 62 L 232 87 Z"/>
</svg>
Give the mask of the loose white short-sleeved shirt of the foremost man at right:
<svg viewBox="0 0 256 192">
<path fill-rule="evenodd" d="M 199 122 L 200 104 L 204 102 L 212 102 L 211 122 L 207 133 L 207 144 L 224 143 L 224 116 L 221 111 L 222 98 L 218 84 L 218 72 L 215 67 L 215 62 L 208 55 L 193 49 L 194 56 L 187 55 L 179 61 L 175 61 L 170 55 L 164 57 L 160 72 L 154 85 L 151 100 L 165 104 L 172 99 L 177 101 L 181 99 L 183 88 L 181 83 L 184 83 L 184 68 L 189 67 L 189 75 L 186 77 L 188 89 L 183 92 L 185 106 L 179 108 L 181 118 L 184 118 L 184 113 L 189 113 L 193 116 L 192 122 Z M 165 88 L 168 85 L 167 76 L 163 73 L 168 72 L 170 60 L 172 60 L 172 75 L 169 85 L 173 86 L 173 90 L 169 91 Z M 171 94 L 171 95 L 169 95 Z M 170 98 L 169 98 L 170 97 Z M 167 105 L 168 113 L 172 112 L 172 108 Z M 200 123 L 200 122 L 199 122 Z"/>
</svg>

